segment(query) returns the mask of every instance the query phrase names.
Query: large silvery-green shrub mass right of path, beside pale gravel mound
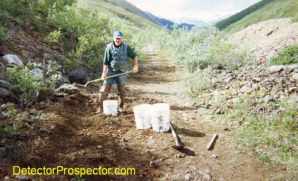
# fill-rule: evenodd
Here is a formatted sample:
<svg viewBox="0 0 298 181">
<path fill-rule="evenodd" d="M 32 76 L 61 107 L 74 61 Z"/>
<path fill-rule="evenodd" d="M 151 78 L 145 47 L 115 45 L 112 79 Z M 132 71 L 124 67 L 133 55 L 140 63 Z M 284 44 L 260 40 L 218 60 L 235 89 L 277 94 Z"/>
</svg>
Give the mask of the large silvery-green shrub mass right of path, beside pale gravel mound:
<svg viewBox="0 0 298 181">
<path fill-rule="evenodd" d="M 162 47 L 175 65 L 185 67 L 191 73 L 220 65 L 236 70 L 248 63 L 248 51 L 236 49 L 225 39 L 225 35 L 213 26 L 195 27 L 191 31 L 174 29 Z"/>
</svg>

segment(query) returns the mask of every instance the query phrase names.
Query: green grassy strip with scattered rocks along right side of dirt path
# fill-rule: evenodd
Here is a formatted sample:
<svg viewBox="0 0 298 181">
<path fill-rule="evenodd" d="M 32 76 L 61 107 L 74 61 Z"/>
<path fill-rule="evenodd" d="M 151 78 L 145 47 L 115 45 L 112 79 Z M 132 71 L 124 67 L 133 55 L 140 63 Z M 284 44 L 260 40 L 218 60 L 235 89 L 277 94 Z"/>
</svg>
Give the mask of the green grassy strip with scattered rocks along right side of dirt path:
<svg viewBox="0 0 298 181">
<path fill-rule="evenodd" d="M 258 153 L 262 161 L 285 168 L 287 174 L 282 174 L 282 180 L 291 180 L 298 174 L 297 103 L 289 102 L 290 97 L 265 102 L 258 97 L 271 95 L 273 92 L 263 89 L 234 99 L 227 98 L 230 92 L 223 95 L 218 92 L 212 97 L 206 94 L 201 93 L 201 101 L 224 111 L 224 114 L 214 116 L 217 120 L 231 123 L 238 130 L 239 145 Z"/>
</svg>

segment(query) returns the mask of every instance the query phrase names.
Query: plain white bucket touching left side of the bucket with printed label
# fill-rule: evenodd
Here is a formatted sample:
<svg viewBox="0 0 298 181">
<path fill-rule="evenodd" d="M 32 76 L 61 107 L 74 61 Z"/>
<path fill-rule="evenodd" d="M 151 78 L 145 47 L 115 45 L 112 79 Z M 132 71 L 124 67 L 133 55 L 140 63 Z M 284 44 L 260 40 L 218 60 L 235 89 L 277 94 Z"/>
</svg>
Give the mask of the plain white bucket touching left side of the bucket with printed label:
<svg viewBox="0 0 298 181">
<path fill-rule="evenodd" d="M 151 125 L 151 104 L 140 104 L 134 106 L 134 114 L 137 129 L 149 129 Z"/>
</svg>

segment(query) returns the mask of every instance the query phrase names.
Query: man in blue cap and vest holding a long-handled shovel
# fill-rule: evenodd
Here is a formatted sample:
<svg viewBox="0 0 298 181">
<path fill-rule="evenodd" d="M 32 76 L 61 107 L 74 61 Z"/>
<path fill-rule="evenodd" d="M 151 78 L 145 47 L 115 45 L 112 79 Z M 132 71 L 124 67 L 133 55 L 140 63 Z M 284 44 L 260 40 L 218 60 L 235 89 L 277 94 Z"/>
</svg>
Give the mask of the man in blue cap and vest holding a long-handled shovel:
<svg viewBox="0 0 298 181">
<path fill-rule="evenodd" d="M 104 80 L 104 82 L 99 93 L 99 108 L 95 114 L 103 112 L 103 101 L 107 99 L 114 82 L 117 84 L 118 112 L 127 113 L 123 107 L 127 92 L 125 90 L 126 74 L 106 79 L 106 77 L 127 72 L 129 57 L 132 58 L 134 62 L 134 68 L 132 70 L 133 74 L 138 72 L 138 56 L 136 52 L 128 44 L 123 43 L 122 40 L 122 32 L 115 31 L 113 33 L 113 42 L 108 44 L 105 49 L 101 76 L 101 79 Z"/>
</svg>

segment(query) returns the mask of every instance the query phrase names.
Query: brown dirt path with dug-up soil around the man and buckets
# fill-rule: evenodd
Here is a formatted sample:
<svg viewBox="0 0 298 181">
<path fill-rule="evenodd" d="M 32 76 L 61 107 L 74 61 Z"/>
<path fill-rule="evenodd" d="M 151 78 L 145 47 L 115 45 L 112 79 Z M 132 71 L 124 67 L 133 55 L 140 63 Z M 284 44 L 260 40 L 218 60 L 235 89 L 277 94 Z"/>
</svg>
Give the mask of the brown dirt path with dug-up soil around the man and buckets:
<svg viewBox="0 0 298 181">
<path fill-rule="evenodd" d="M 181 95 L 183 78 L 168 59 L 148 53 L 139 73 L 129 75 L 125 108 L 128 114 L 94 114 L 100 83 L 36 105 L 45 119 L 36 123 L 27 136 L 16 139 L 22 157 L 7 157 L 1 164 L 1 178 L 14 180 L 13 166 L 20 168 L 111 168 L 102 175 L 26 175 L 39 181 L 104 180 L 201 180 L 262 181 L 273 178 L 277 168 L 259 160 L 259 155 L 236 144 L 236 130 L 228 123 L 211 119 L 207 107 L 195 107 Z M 117 99 L 115 88 L 109 99 Z M 158 102 L 170 105 L 169 119 L 185 147 L 173 149 L 170 131 L 138 130 L 133 107 Z M 210 150 L 206 147 L 219 133 Z M 133 168 L 135 173 L 116 175 L 116 168 Z M 104 171 L 104 170 L 102 170 Z M 128 171 L 128 170 L 127 170 Z M 19 176 L 18 178 L 20 178 Z"/>
</svg>

